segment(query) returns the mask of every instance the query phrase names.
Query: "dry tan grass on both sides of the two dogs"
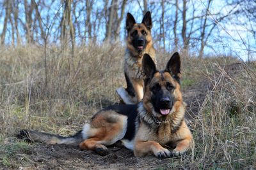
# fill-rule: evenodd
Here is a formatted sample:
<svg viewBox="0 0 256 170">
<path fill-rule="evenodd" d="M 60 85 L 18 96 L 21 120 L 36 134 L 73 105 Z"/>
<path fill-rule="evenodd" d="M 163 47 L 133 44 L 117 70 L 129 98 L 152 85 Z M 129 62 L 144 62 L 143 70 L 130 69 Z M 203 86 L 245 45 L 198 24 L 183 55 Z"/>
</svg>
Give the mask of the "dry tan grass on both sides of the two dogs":
<svg viewBox="0 0 256 170">
<path fill-rule="evenodd" d="M 97 110 L 118 102 L 115 89 L 125 84 L 124 48 L 118 44 L 79 47 L 74 58 L 52 47 L 47 52 L 47 86 L 42 47 L 0 50 L 2 148 L 4 139 L 23 128 L 73 134 Z M 166 56 L 157 56 L 159 67 L 165 66 Z M 190 124 L 195 150 L 170 159 L 169 168 L 256 168 L 256 67 L 239 64 L 234 73 L 226 67 L 234 62 L 227 57 L 182 59 L 183 89 L 197 81 L 207 81 L 212 88 Z M 0 157 L 0 165 L 8 167 L 6 157 Z"/>
</svg>

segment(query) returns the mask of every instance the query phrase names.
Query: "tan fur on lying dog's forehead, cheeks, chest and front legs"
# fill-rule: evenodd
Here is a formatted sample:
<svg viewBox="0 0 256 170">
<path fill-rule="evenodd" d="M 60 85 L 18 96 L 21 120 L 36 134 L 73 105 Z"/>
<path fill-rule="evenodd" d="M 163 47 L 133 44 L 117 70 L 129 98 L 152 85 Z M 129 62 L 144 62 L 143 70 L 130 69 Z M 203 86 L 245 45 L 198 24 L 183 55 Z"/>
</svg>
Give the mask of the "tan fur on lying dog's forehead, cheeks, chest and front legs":
<svg viewBox="0 0 256 170">
<path fill-rule="evenodd" d="M 171 113 L 164 120 L 161 120 L 161 115 L 154 111 L 154 107 L 150 102 L 151 95 L 149 89 L 150 85 L 156 82 L 163 87 L 165 80 L 172 82 L 173 86 L 175 86 L 173 96 L 176 102 L 173 104 Z M 182 154 L 191 148 L 193 146 L 193 137 L 184 120 L 185 110 L 186 104 L 182 101 L 179 83 L 173 80 L 169 73 L 163 73 L 162 75 L 156 73 L 150 84 L 146 87 L 143 106 L 139 108 L 141 123 L 135 138 L 134 154 L 138 157 L 148 152 L 156 155 L 159 151 L 164 152 L 167 150 L 163 148 L 166 144 L 176 146 L 172 151 L 174 155 Z M 152 117 L 158 117 L 159 122 L 156 123 L 156 120 L 153 120 Z M 150 125 L 150 129 L 148 125 Z M 147 150 L 144 148 L 147 148 Z"/>
</svg>

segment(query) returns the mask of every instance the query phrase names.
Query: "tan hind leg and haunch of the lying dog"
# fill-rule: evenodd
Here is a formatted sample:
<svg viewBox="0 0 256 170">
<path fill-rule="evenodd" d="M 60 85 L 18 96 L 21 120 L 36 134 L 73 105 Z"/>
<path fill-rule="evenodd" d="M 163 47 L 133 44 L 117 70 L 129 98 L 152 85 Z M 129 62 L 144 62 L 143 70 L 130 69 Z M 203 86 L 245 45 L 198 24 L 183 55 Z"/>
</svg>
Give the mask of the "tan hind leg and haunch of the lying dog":
<svg viewBox="0 0 256 170">
<path fill-rule="evenodd" d="M 127 128 L 127 117 L 114 111 L 98 113 L 90 124 L 84 125 L 82 134 L 86 138 L 79 144 L 83 150 L 94 150 L 99 155 L 106 155 L 108 148 L 124 138 Z"/>
</svg>

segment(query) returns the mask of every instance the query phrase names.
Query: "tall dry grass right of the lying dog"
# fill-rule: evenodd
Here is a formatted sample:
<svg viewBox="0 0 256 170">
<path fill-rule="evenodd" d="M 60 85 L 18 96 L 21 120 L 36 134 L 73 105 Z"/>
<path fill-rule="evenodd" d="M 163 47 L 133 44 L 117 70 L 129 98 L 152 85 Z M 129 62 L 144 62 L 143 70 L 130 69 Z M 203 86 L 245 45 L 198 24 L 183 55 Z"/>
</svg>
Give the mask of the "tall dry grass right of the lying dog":
<svg viewBox="0 0 256 170">
<path fill-rule="evenodd" d="M 211 90 L 193 124 L 195 162 L 203 169 L 253 169 L 256 160 L 256 74 L 245 63 L 212 62 L 202 75 Z"/>
</svg>

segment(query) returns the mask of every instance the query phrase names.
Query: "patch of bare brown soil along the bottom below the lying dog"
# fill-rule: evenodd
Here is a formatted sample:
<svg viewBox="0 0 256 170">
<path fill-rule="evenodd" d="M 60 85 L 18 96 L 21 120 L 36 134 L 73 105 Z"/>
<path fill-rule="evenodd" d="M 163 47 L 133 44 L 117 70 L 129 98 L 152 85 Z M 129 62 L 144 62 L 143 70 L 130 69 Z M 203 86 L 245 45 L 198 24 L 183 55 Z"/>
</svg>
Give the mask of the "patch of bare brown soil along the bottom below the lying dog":
<svg viewBox="0 0 256 170">
<path fill-rule="evenodd" d="M 109 154 L 101 157 L 78 147 L 35 144 L 30 155 L 22 155 L 31 164 L 19 169 L 161 169 L 173 159 L 136 158 L 131 150 L 122 146 L 109 147 Z"/>
</svg>

